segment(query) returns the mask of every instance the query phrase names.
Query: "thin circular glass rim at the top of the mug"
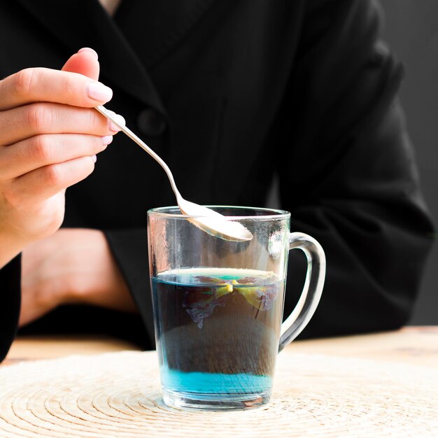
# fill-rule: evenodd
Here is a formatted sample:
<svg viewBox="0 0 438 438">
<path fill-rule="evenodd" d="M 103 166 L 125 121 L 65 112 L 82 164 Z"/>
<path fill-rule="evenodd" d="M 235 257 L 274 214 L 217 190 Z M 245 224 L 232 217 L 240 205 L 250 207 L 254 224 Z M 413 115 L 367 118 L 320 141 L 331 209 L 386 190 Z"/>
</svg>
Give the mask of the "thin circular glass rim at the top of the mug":
<svg viewBox="0 0 438 438">
<path fill-rule="evenodd" d="M 278 209 L 269 209 L 265 207 L 249 207 L 249 206 L 230 206 L 230 205 L 206 205 L 209 209 L 213 209 L 218 211 L 218 213 L 222 213 L 220 210 L 227 211 L 248 211 L 253 212 L 253 214 L 236 214 L 236 215 L 228 215 L 224 214 L 226 220 L 275 220 L 275 219 L 287 219 L 290 218 L 289 211 L 285 210 L 278 210 Z M 187 218 L 204 218 L 206 216 L 202 215 L 187 215 L 181 213 L 181 210 L 178 206 L 166 206 L 166 207 L 157 207 L 155 209 L 148 210 L 149 215 L 153 216 L 164 216 L 167 218 L 181 218 L 181 219 L 187 219 Z"/>
</svg>

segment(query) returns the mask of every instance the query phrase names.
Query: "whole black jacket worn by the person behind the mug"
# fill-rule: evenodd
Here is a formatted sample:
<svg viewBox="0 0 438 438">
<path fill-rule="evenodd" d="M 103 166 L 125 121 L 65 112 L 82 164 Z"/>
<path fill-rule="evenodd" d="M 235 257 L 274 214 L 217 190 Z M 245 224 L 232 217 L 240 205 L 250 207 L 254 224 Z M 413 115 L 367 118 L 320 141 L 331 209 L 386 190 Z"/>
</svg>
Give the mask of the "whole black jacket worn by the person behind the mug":
<svg viewBox="0 0 438 438">
<path fill-rule="evenodd" d="M 402 67 L 380 31 L 381 10 L 368 0 L 123 0 L 113 19 L 98 0 L 3 1 L 0 76 L 59 69 L 94 48 L 114 91 L 108 108 L 167 161 L 186 199 L 263 206 L 277 178 L 292 230 L 327 255 L 323 298 L 303 336 L 386 330 L 409 318 L 432 223 L 396 99 Z M 174 204 L 162 169 L 123 134 L 66 192 L 64 226 L 104 230 L 146 348 L 146 211 Z M 15 332 L 19 265 L 0 271 L 1 356 Z M 304 257 L 292 251 L 285 313 L 303 275 Z M 78 328 L 85 313 L 62 311 L 52 330 L 66 314 Z M 132 320 L 104 330 L 132 333 Z"/>
</svg>

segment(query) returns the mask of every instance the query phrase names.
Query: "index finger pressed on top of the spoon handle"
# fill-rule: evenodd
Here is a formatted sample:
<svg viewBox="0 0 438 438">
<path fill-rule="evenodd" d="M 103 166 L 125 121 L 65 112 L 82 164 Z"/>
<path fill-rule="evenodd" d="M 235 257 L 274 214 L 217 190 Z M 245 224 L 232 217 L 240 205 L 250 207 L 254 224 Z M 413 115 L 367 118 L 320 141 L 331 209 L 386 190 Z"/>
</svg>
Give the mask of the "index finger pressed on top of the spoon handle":
<svg viewBox="0 0 438 438">
<path fill-rule="evenodd" d="M 38 101 L 91 108 L 111 97 L 113 90 L 97 80 L 45 67 L 24 69 L 0 80 L 0 111 Z"/>
</svg>

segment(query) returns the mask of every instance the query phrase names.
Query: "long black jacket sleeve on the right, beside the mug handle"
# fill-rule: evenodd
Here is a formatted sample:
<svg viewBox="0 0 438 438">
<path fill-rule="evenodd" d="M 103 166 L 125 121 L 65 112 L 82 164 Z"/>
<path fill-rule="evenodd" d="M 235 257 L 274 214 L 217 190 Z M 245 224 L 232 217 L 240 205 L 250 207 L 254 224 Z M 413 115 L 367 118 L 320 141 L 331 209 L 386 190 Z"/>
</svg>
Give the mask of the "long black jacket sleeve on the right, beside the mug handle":
<svg viewBox="0 0 438 438">
<path fill-rule="evenodd" d="M 396 329 L 411 315 L 433 230 L 397 101 L 403 69 L 381 41 L 376 2 L 306 5 L 278 164 L 292 231 L 327 256 L 302 337 Z M 285 316 L 304 279 L 304 257 L 290 257 Z"/>
</svg>

